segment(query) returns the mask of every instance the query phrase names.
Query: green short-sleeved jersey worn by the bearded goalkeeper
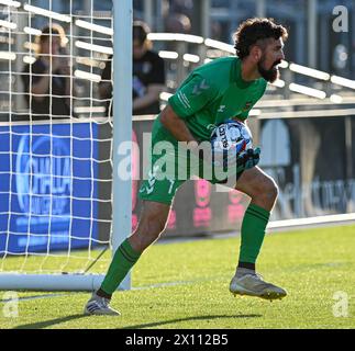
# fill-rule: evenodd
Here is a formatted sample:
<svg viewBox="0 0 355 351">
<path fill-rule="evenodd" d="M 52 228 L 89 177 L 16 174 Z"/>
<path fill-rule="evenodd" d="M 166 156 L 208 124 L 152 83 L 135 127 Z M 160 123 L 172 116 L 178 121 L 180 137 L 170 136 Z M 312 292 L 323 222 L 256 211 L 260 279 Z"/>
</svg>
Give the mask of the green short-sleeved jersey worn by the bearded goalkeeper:
<svg viewBox="0 0 355 351">
<path fill-rule="evenodd" d="M 259 78 L 244 81 L 241 63 L 237 57 L 223 57 L 200 66 L 170 97 L 169 105 L 198 140 L 210 140 L 215 125 L 228 120 L 246 120 L 252 107 L 263 97 L 266 80 Z M 173 137 L 159 123 L 159 117 L 154 129 L 158 132 L 159 138 L 164 135 L 168 139 Z"/>
</svg>

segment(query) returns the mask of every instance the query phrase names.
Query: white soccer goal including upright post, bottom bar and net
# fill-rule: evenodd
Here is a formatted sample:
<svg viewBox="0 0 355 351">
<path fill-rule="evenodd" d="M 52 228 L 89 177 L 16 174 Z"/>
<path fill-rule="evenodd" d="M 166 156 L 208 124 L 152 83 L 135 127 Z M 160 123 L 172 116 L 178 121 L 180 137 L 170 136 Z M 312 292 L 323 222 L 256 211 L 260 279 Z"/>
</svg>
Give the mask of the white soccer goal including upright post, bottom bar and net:
<svg viewBox="0 0 355 351">
<path fill-rule="evenodd" d="M 0 122 L 0 139 L 1 144 L 8 143 L 8 146 L 0 147 L 0 162 L 1 157 L 7 158 L 10 172 L 5 174 L 5 170 L 0 167 L 0 177 L 7 177 L 8 190 L 4 186 L 0 186 L 0 201 L 2 199 L 9 199 L 9 204 L 0 206 L 0 223 L 3 220 L 5 225 L 0 225 L 0 291 L 9 290 L 25 290 L 25 291 L 93 291 L 98 288 L 103 280 L 104 273 L 110 263 L 110 256 L 107 250 L 111 249 L 112 256 L 114 254 L 119 245 L 131 234 L 132 228 L 132 180 L 122 179 L 118 172 L 120 161 L 127 157 L 127 155 L 119 154 L 119 146 L 124 141 L 132 140 L 132 22 L 133 22 L 133 2 L 132 0 L 112 1 L 112 27 L 106 27 L 104 25 L 97 24 L 95 21 L 93 13 L 93 0 L 88 0 L 90 3 L 90 14 L 78 14 L 78 10 L 74 11 L 75 0 L 69 0 L 70 13 L 57 13 L 54 7 L 54 0 L 51 0 L 48 9 L 41 9 L 32 5 L 35 1 L 9 1 L 0 0 L 0 8 L 3 13 L 8 15 L 1 18 L 1 30 L 0 35 L 5 38 L 8 43 L 5 46 L 0 44 L 0 65 L 7 67 L 1 71 L 0 69 L 0 81 L 5 78 L 5 73 L 9 77 L 9 91 L 8 91 L 8 114 L 9 123 Z M 33 3 L 34 4 L 34 3 Z M 15 104 L 16 101 L 21 101 L 23 92 L 16 90 L 18 84 L 12 84 L 13 81 L 21 81 L 22 71 L 19 70 L 20 66 L 14 65 L 19 60 L 22 63 L 31 64 L 35 60 L 33 54 L 33 47 L 35 36 L 41 34 L 38 27 L 32 26 L 33 15 L 42 15 L 48 24 L 60 23 L 63 21 L 67 29 L 70 29 L 68 35 L 68 46 L 70 47 L 67 57 L 71 61 L 71 67 L 77 65 L 73 69 L 69 80 L 70 88 L 79 82 L 79 97 L 67 97 L 70 100 L 70 107 L 80 113 L 81 110 L 86 110 L 88 116 L 82 118 L 75 118 L 70 113 L 70 118 L 63 120 L 63 122 L 54 121 L 51 122 L 34 122 L 33 115 L 30 112 L 29 122 L 13 122 L 11 117 L 13 115 L 21 116 L 21 111 Z M 25 19 L 25 21 L 23 21 Z M 100 19 L 99 19 L 100 20 Z M 81 21 L 81 22 L 77 22 Z M 80 29 L 78 29 L 80 26 Z M 79 35 L 78 31 L 85 27 L 86 33 Z M 97 35 L 100 33 L 100 35 Z M 18 39 L 23 37 L 24 41 Z M 102 38 L 104 36 L 104 39 Z M 16 41 L 20 43 L 21 46 Z M 51 39 L 52 41 L 52 39 Z M 102 41 L 104 45 L 96 46 L 97 42 Z M 109 43 L 111 42 L 111 43 Z M 113 43 L 112 43 L 113 42 Z M 109 44 L 108 44 L 109 43 Z M 113 118 L 96 118 L 95 112 L 102 112 L 102 104 L 99 105 L 98 98 L 93 95 L 97 92 L 97 83 L 100 81 L 100 72 L 104 67 L 104 61 L 110 58 L 110 50 L 112 50 L 113 44 L 113 58 L 112 65 L 112 80 L 114 81 L 113 89 L 113 105 L 114 113 Z M 25 48 L 22 47 L 24 45 Z M 81 46 L 80 46 L 81 45 Z M 85 47 L 87 45 L 87 47 Z M 13 50 L 13 47 L 18 47 Z M 5 49 L 8 48 L 8 49 Z M 96 55 L 96 50 L 99 50 L 103 55 Z M 75 56 L 74 49 L 84 49 L 87 55 Z M 62 55 L 62 54 L 60 54 Z M 51 65 L 53 65 L 51 63 Z M 80 69 L 80 65 L 84 65 L 86 69 Z M 82 66 L 82 67 L 84 67 Z M 16 67 L 16 68 L 14 68 Z M 32 68 L 30 75 L 33 73 Z M 68 78 L 68 77 L 67 77 Z M 85 83 L 82 81 L 85 80 Z M 52 90 L 52 82 L 49 82 L 49 93 L 54 93 Z M 80 86 L 80 83 L 82 83 Z M 30 78 L 30 84 L 33 84 L 32 78 Z M 82 91 L 85 87 L 89 87 L 88 93 L 85 94 Z M 0 93 L 4 93 L 7 87 L 0 84 Z M 80 95 L 81 93 L 81 95 Z M 31 95 L 31 94 L 30 94 Z M 55 94 L 54 94 L 55 95 Z M 34 97 L 30 97 L 32 101 Z M 53 97 L 49 97 L 51 103 L 53 103 Z M 0 101 L 1 102 L 1 101 Z M 81 110 L 80 110 L 81 109 Z M 25 113 L 23 113 L 25 114 Z M 103 113 L 102 113 L 103 114 Z M 1 111 L 0 111 L 1 116 Z M 80 129 L 80 125 L 88 126 L 84 132 Z M 101 132 L 97 131 L 98 126 L 110 125 L 113 139 L 108 140 L 108 137 L 98 136 Z M 66 128 L 63 132 L 60 128 Z M 53 135 L 52 135 L 53 133 Z M 63 134 L 60 134 L 63 133 Z M 69 133 L 68 146 L 58 147 L 58 140 L 60 137 L 65 139 Z M 42 145 L 41 151 L 38 138 L 46 137 L 49 141 L 45 147 Z M 21 139 L 22 138 L 22 139 Z M 23 138 L 25 141 L 23 141 Z M 22 140 L 22 141 L 21 141 Z M 18 146 L 18 143 L 21 144 Z M 98 151 L 95 145 L 99 145 L 101 141 L 109 143 L 111 151 L 106 150 L 106 159 L 99 157 L 100 150 Z M 80 144 L 82 143 L 82 144 Z M 85 144 L 86 143 L 86 144 Z M 103 144 L 102 143 L 102 144 Z M 35 144 L 35 146 L 33 146 Z M 14 149 L 15 145 L 15 149 Z M 81 146 L 80 146 L 81 145 Z M 46 148 L 51 151 L 46 155 L 43 151 Z M 101 146 L 100 146 L 101 148 Z M 58 151 L 60 149 L 60 151 Z M 98 147 L 99 149 L 99 147 Z M 19 150 L 21 155 L 26 156 L 27 166 L 25 168 L 26 180 L 30 184 L 21 185 L 22 193 L 25 194 L 22 197 L 19 195 L 19 184 L 24 181 L 23 176 L 19 174 L 19 169 L 22 167 L 22 160 L 19 158 Z M 63 151 L 67 150 L 67 151 Z M 74 154 L 73 154 L 74 151 Z M 59 154 L 60 155 L 59 155 Z M 64 154 L 67 152 L 67 154 Z M 78 154 L 75 154 L 78 152 Z M 80 154 L 81 152 L 81 154 Z M 38 155 L 41 154 L 41 155 Z M 9 156 L 10 155 L 10 156 Z M 84 163 L 87 160 L 87 166 Z M 67 162 L 67 165 L 65 165 Z M 77 162 L 77 165 L 76 165 Z M 80 163 L 81 162 L 81 163 Z M 109 197 L 102 200 L 98 196 L 98 188 L 101 186 L 100 170 L 97 169 L 100 163 L 111 162 L 112 167 L 112 191 Z M 14 163 L 14 165 L 12 165 Z M 47 167 L 48 174 L 42 178 L 42 182 L 38 181 L 38 176 L 35 174 L 36 167 L 42 165 L 44 168 Z M 59 166 L 57 166 L 59 165 Z M 63 166 L 64 165 L 64 166 Z M 82 166 L 80 166 L 82 165 Z M 42 167 L 41 166 L 41 167 Z M 58 174 L 52 174 L 51 171 L 56 167 L 66 167 L 67 172 Z M 84 171 L 87 168 L 87 174 L 73 176 L 70 171 L 76 170 L 78 172 Z M 23 174 L 24 174 L 23 173 Z M 51 173 L 51 174 L 49 174 Z M 89 176 L 88 176 L 89 174 Z M 37 178 L 36 178 L 37 177 Z M 47 185 L 45 185 L 47 181 Z M 38 182 L 38 184 L 36 183 Z M 48 183 L 49 182 L 49 183 Z M 81 182 L 81 183 L 80 183 Z M 108 180 L 102 180 L 108 182 Z M 49 184 L 49 185 L 48 185 Z M 58 184 L 58 185 L 55 185 Z M 90 199 L 82 197 L 80 193 L 80 186 L 84 184 L 82 192 L 90 194 Z M 42 186 L 42 188 L 41 188 Z M 48 186 L 48 188 L 46 188 Z M 64 205 L 64 196 L 58 195 L 56 188 L 67 186 L 68 194 L 70 196 L 70 203 Z M 34 190 L 36 188 L 36 191 Z M 42 189 L 40 196 L 38 189 Z M 5 197 L 1 197 L 5 196 Z M 21 199 L 22 200 L 21 200 Z M 20 200 L 19 200 L 20 199 Z M 25 199 L 25 200 L 23 200 Z M 21 202 L 22 204 L 15 204 Z M 84 204 L 82 206 L 80 204 Z M 98 204 L 106 203 L 111 206 L 112 218 L 100 219 L 98 215 Z M 67 212 L 56 212 L 57 206 L 67 206 Z M 30 208 L 26 218 L 20 216 L 20 207 Z M 42 211 L 40 211 L 37 207 Z M 43 210 L 47 206 L 46 210 Z M 18 208 L 19 207 L 19 208 Z M 34 210 L 33 210 L 34 208 Z M 33 210 L 33 212 L 32 212 Z M 87 217 L 86 213 L 81 213 L 85 210 L 89 212 Z M 47 211 L 47 212 L 45 212 Z M 80 212 L 81 211 L 81 212 Z M 47 215 L 47 216 L 46 216 Z M 56 220 L 48 219 L 56 218 Z M 62 220 L 62 222 L 60 222 Z M 22 228 L 26 226 L 25 233 L 18 233 L 14 229 L 14 223 L 22 225 Z M 34 223 L 41 226 L 46 224 L 47 227 L 44 233 L 35 233 Z M 63 225 L 66 223 L 67 233 L 58 233 L 53 235 L 52 230 L 56 225 Z M 110 231 L 109 239 L 100 238 L 100 226 L 106 225 L 106 231 Z M 84 237 L 76 236 L 76 228 L 88 228 L 88 233 L 84 233 Z M 108 229 L 109 228 L 109 229 Z M 34 233 L 33 233 L 34 230 Z M 41 229 L 43 230 L 43 228 Z M 91 231 L 97 233 L 97 237 L 91 236 Z M 85 231 L 85 230 L 84 230 Z M 55 247 L 57 242 L 62 242 L 64 236 L 66 238 L 65 251 L 52 251 L 52 245 Z M 13 240 L 22 242 L 25 248 L 25 252 L 18 252 L 15 249 L 12 250 Z M 57 240 L 57 241 L 56 241 Z M 43 252 L 32 251 L 32 245 L 40 244 L 45 247 Z M 85 242 L 81 251 L 76 251 L 75 245 L 78 247 Z M 78 252 L 78 253 L 77 253 Z M 103 261 L 98 261 L 98 257 L 106 254 Z M 13 257 L 15 259 L 23 258 L 21 267 L 13 267 Z M 49 259 L 56 260 L 57 269 L 53 270 L 52 267 L 47 269 Z M 71 260 L 75 261 L 70 265 Z M 96 273 L 88 273 L 91 265 L 99 265 Z M 9 267 L 9 268 L 8 268 Z M 27 267 L 30 269 L 27 269 Z M 70 267 L 71 271 L 67 270 Z M 131 288 L 131 276 L 130 273 L 120 285 L 119 290 Z"/>
</svg>

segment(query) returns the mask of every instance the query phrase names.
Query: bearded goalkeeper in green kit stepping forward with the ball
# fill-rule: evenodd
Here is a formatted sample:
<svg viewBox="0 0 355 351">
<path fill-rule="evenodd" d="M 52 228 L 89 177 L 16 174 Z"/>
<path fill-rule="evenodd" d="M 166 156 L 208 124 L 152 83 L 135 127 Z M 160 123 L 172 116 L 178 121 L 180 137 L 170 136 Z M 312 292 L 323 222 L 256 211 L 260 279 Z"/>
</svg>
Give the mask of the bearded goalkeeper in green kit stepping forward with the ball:
<svg viewBox="0 0 355 351">
<path fill-rule="evenodd" d="M 249 19 L 240 25 L 234 37 L 236 57 L 219 58 L 195 69 L 169 99 L 154 123 L 152 150 L 157 143 L 166 141 L 178 152 L 180 143 L 185 141 L 189 145 L 191 158 L 196 157 L 203 165 L 213 165 L 213 157 L 200 152 L 201 143 L 210 143 L 211 128 L 231 120 L 244 122 L 263 97 L 267 82 L 278 78 L 277 66 L 285 58 L 282 48 L 288 37 L 284 26 L 268 19 Z M 275 181 L 256 166 L 259 154 L 259 148 L 242 152 L 236 157 L 232 172 L 228 173 L 229 180 L 233 180 L 233 185 L 229 186 L 251 197 L 242 223 L 240 257 L 230 291 L 234 295 L 276 299 L 285 297 L 286 291 L 265 282 L 255 271 L 278 194 Z M 162 155 L 152 155 L 148 179 L 143 181 L 140 190 L 143 210 L 138 226 L 118 248 L 100 288 L 88 301 L 85 314 L 120 315 L 110 306 L 112 294 L 142 252 L 164 231 L 175 193 L 187 179 L 177 177 L 176 171 L 166 176 L 160 158 Z M 174 152 L 170 161 L 177 162 Z M 180 170 L 180 163 L 175 169 Z M 186 171 L 188 177 L 196 174 L 189 167 Z M 221 183 L 221 179 L 213 174 L 211 178 L 200 173 L 196 176 Z"/>
</svg>

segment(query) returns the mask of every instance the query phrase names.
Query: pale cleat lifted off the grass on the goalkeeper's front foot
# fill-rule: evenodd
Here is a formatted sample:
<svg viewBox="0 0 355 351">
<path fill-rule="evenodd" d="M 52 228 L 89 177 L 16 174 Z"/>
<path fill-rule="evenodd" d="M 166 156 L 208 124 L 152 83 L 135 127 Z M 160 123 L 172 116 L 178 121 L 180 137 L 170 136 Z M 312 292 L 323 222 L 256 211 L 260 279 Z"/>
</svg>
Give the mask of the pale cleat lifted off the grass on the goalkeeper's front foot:
<svg viewBox="0 0 355 351">
<path fill-rule="evenodd" d="M 287 292 L 279 286 L 267 283 L 259 274 L 245 274 L 233 276 L 230 292 L 235 295 L 257 296 L 266 299 L 281 299 Z"/>
</svg>

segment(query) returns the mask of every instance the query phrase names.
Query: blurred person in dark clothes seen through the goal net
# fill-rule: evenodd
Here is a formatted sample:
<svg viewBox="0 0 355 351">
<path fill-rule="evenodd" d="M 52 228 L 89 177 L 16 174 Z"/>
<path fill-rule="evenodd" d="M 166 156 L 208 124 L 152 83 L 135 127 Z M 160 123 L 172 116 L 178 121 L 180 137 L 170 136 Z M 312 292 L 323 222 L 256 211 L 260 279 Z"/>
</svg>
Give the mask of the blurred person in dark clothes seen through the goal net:
<svg viewBox="0 0 355 351">
<path fill-rule="evenodd" d="M 32 120 L 67 118 L 74 91 L 64 29 L 58 24 L 44 27 L 36 44 L 36 60 L 26 65 L 22 75 Z"/>
</svg>

